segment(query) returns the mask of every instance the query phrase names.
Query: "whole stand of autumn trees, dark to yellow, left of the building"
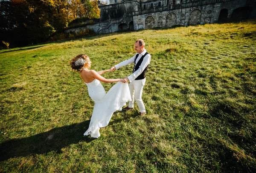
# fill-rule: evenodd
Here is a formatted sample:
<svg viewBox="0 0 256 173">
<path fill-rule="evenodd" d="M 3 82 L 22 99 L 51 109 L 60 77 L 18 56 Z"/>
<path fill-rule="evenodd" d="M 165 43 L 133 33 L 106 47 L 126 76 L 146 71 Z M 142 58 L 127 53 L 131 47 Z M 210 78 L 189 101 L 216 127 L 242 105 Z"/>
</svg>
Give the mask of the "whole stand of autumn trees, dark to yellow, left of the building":
<svg viewBox="0 0 256 173">
<path fill-rule="evenodd" d="M 69 3 L 73 3 L 72 6 Z M 63 32 L 68 22 L 77 17 L 99 18 L 96 3 L 89 0 L 1 0 L 0 37 L 13 47 L 46 42 L 53 34 Z M 79 15 L 72 15 L 74 9 L 81 9 Z"/>
</svg>

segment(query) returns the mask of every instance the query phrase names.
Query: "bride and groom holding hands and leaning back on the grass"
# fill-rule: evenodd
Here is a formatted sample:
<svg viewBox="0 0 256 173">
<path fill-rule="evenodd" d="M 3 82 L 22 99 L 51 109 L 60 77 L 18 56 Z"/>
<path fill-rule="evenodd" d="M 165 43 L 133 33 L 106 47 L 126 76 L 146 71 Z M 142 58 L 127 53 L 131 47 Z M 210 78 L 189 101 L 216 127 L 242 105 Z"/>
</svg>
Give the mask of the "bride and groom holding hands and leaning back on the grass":
<svg viewBox="0 0 256 173">
<path fill-rule="evenodd" d="M 84 135 L 98 138 L 100 136 L 99 128 L 107 126 L 113 113 L 117 110 L 122 111 L 122 107 L 128 101 L 129 105 L 123 108 L 123 110 L 133 109 L 135 99 L 140 110 L 138 115 L 146 114 L 142 93 L 151 56 L 145 50 L 145 42 L 142 39 L 137 40 L 134 46 L 137 54 L 104 71 L 96 72 L 89 70 L 91 62 L 90 58 L 86 55 L 80 54 L 71 60 L 71 68 L 80 73 L 81 78 L 88 87 L 89 96 L 95 102 L 90 125 Z M 105 72 L 114 71 L 131 63 L 134 63 L 133 73 L 124 79 L 105 79 L 101 76 Z M 106 94 L 100 81 L 117 83 Z M 130 81 L 129 86 L 128 81 Z"/>
</svg>

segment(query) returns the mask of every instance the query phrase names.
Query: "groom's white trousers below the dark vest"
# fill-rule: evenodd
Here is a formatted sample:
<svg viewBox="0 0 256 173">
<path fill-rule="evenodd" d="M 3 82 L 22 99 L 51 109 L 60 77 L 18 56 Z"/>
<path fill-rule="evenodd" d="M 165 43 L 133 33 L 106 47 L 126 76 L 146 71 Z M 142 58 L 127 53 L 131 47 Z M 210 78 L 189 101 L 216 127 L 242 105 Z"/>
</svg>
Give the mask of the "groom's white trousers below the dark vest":
<svg viewBox="0 0 256 173">
<path fill-rule="evenodd" d="M 129 108 L 134 108 L 134 99 L 139 107 L 141 113 L 145 112 L 145 106 L 142 101 L 142 92 L 145 85 L 146 78 L 141 80 L 133 80 L 130 82 L 129 88 L 131 93 L 131 101 L 129 101 Z"/>
</svg>

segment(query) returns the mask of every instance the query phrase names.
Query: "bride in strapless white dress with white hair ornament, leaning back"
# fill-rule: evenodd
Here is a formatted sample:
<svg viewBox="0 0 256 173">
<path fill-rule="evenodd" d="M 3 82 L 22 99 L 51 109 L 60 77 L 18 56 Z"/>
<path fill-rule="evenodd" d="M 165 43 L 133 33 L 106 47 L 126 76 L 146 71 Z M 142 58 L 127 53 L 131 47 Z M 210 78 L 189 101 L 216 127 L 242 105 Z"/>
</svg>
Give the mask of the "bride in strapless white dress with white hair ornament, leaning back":
<svg viewBox="0 0 256 173">
<path fill-rule="evenodd" d="M 73 70 L 80 73 L 87 85 L 90 98 L 95 102 L 90 125 L 84 136 L 90 135 L 98 138 L 100 136 L 99 128 L 107 126 L 113 113 L 117 110 L 121 111 L 126 102 L 131 101 L 128 83 L 122 83 L 122 79 L 105 79 L 101 76 L 105 72 L 110 72 L 110 69 L 98 72 L 89 70 L 91 62 L 87 55 L 77 55 L 70 61 L 70 65 Z M 100 81 L 117 83 L 106 94 Z"/>
</svg>

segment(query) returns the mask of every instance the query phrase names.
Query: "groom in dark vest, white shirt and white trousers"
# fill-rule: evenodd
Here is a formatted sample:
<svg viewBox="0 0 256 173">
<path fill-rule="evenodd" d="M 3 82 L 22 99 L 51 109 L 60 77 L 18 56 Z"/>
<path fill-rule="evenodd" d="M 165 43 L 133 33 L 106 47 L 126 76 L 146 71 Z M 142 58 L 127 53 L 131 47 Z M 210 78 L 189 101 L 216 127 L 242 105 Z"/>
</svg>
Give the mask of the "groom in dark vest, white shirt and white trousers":
<svg viewBox="0 0 256 173">
<path fill-rule="evenodd" d="M 135 54 L 130 59 L 120 62 L 119 64 L 111 67 L 111 71 L 114 71 L 116 69 L 119 69 L 125 65 L 128 65 L 134 62 L 133 73 L 122 80 L 122 82 L 124 83 L 130 81 L 129 88 L 131 93 L 131 101 L 129 101 L 129 105 L 123 108 L 123 110 L 127 111 L 130 109 L 133 109 L 134 98 L 135 98 L 135 101 L 140 110 L 140 113 L 138 115 L 142 116 L 146 114 L 146 109 L 142 100 L 142 92 L 146 82 L 145 77 L 146 77 L 148 65 L 151 60 L 151 56 L 146 51 L 145 42 L 142 39 L 139 39 L 135 42 L 135 51 L 137 51 L 137 54 Z"/>
</svg>

